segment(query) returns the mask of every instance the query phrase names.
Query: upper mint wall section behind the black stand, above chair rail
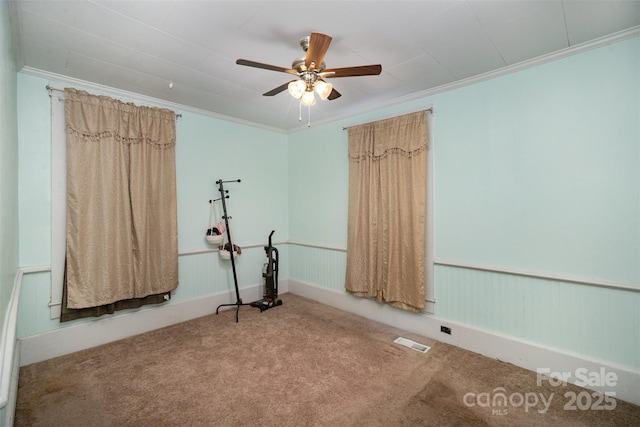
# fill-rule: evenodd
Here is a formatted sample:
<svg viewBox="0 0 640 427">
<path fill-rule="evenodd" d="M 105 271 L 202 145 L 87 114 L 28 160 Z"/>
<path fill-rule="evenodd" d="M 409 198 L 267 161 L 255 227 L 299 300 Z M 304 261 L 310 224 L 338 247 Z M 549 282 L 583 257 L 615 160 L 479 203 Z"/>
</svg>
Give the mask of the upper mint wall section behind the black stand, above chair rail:
<svg viewBox="0 0 640 427">
<path fill-rule="evenodd" d="M 180 250 L 203 246 L 209 222 L 209 200 L 219 196 L 215 182 L 225 184 L 234 241 L 286 241 L 288 232 L 287 136 L 209 117 L 183 113 L 177 123 L 176 176 Z M 222 205 L 216 204 L 218 216 Z"/>
</svg>

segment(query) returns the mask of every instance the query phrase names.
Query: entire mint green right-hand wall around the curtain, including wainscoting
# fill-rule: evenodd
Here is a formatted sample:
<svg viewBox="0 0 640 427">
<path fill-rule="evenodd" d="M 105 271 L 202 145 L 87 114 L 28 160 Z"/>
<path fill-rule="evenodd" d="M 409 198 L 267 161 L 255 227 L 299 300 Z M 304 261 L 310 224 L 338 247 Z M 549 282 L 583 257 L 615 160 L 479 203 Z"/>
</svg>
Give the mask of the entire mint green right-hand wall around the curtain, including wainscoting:
<svg viewBox="0 0 640 427">
<path fill-rule="evenodd" d="M 290 135 L 291 239 L 346 245 L 343 126 L 433 105 L 436 260 L 640 283 L 639 54 L 636 37 Z M 344 258 L 292 246 L 291 278 L 342 290 Z M 640 368 L 640 292 L 436 266 L 435 293 L 439 318 Z"/>
</svg>

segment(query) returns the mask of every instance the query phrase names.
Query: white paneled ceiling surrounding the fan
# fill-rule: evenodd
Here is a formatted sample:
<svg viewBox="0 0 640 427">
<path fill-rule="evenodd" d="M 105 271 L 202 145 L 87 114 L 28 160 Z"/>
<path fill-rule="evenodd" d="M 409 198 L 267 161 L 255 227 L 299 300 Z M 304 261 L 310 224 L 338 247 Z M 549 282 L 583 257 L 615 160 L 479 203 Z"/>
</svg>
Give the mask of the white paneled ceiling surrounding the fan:
<svg viewBox="0 0 640 427">
<path fill-rule="evenodd" d="M 637 32 L 640 0 L 10 0 L 25 72 L 62 75 L 260 126 L 301 127 L 298 101 L 262 93 L 290 75 L 312 31 L 333 37 L 328 68 L 382 64 L 331 80 L 312 121 L 347 117 L 595 39 Z M 169 83 L 173 82 L 173 89 Z M 306 124 L 306 112 L 303 113 Z"/>
</svg>

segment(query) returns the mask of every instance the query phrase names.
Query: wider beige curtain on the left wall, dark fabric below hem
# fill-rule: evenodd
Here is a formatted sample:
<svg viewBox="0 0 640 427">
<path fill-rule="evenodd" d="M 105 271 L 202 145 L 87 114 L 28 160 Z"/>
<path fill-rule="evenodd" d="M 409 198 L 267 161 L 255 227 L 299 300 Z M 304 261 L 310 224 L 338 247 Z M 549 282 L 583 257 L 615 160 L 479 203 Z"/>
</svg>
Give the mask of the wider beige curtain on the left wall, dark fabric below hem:
<svg viewBox="0 0 640 427">
<path fill-rule="evenodd" d="M 63 303 L 82 309 L 170 292 L 178 285 L 175 113 L 76 89 L 64 96 Z"/>
</svg>

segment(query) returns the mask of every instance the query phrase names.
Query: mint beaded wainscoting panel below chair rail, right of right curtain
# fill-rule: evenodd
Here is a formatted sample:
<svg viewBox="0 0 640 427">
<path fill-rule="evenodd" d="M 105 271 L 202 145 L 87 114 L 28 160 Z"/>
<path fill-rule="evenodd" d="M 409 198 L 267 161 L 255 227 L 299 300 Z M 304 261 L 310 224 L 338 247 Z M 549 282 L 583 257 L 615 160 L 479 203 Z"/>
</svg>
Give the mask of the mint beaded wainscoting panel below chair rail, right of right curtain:
<svg viewBox="0 0 640 427">
<path fill-rule="evenodd" d="M 436 266 L 440 318 L 640 369 L 640 292 Z"/>
</svg>

